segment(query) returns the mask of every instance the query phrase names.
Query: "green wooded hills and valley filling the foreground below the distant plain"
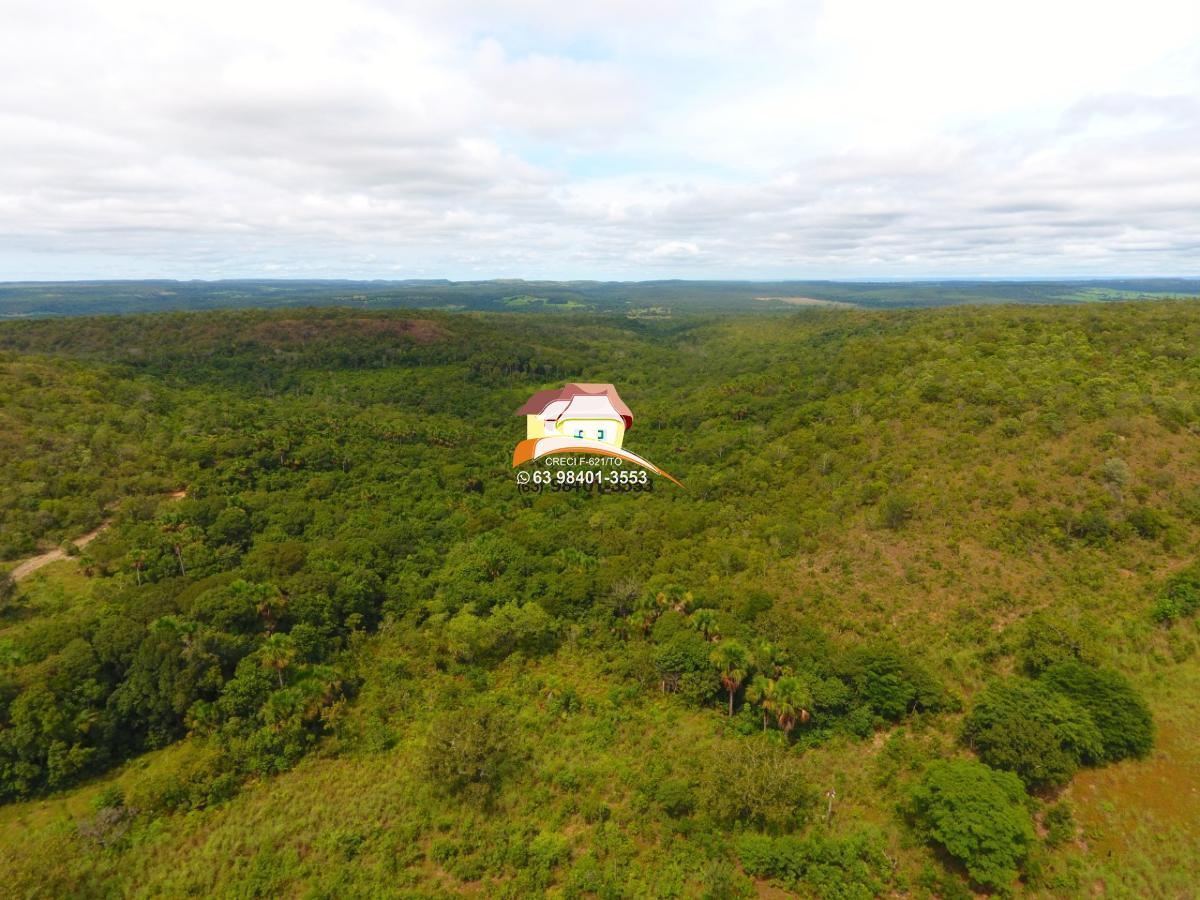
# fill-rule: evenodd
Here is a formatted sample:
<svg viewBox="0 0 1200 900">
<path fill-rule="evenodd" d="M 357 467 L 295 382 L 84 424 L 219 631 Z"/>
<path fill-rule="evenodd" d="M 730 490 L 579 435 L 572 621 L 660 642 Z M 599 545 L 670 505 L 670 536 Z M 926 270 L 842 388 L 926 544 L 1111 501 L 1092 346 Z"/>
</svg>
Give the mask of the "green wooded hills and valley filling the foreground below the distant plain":
<svg viewBox="0 0 1200 900">
<path fill-rule="evenodd" d="M 65 552 L 0 578 L 6 889 L 1186 895 L 1196 348 L 1170 301 L 0 323 L 0 571 Z M 684 487 L 520 491 L 569 380 Z"/>
</svg>

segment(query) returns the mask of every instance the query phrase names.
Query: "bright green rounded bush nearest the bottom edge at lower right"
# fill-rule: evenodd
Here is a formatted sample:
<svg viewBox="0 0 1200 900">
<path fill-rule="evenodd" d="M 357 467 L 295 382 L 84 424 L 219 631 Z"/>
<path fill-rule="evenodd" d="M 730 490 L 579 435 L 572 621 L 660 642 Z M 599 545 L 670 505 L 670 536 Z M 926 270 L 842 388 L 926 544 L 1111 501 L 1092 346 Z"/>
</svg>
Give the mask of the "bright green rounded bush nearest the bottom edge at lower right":
<svg viewBox="0 0 1200 900">
<path fill-rule="evenodd" d="M 1034 841 L 1025 788 L 1009 772 L 970 760 L 930 764 L 908 794 L 918 833 L 966 866 L 972 881 L 1006 890 Z"/>
</svg>

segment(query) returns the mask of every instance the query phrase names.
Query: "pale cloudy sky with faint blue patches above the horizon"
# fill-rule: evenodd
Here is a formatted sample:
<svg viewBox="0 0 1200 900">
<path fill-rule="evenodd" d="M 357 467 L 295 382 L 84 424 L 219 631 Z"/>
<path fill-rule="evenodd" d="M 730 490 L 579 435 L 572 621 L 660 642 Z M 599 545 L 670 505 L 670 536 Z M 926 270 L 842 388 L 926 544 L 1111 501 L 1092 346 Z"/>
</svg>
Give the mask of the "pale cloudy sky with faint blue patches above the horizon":
<svg viewBox="0 0 1200 900">
<path fill-rule="evenodd" d="M 0 0 L 0 280 L 1198 260 L 1195 0 Z"/>
</svg>

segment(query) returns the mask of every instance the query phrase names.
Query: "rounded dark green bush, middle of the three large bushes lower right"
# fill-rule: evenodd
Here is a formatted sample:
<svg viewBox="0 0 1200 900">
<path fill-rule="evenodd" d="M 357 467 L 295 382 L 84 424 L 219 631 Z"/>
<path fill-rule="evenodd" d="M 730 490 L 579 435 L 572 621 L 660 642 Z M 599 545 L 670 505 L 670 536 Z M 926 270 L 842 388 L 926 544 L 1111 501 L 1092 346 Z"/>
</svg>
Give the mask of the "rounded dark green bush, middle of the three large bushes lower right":
<svg viewBox="0 0 1200 900">
<path fill-rule="evenodd" d="M 1026 678 L 992 682 L 962 727 L 964 740 L 996 769 L 1026 785 L 1063 785 L 1104 752 L 1092 718 L 1061 694 Z"/>
</svg>

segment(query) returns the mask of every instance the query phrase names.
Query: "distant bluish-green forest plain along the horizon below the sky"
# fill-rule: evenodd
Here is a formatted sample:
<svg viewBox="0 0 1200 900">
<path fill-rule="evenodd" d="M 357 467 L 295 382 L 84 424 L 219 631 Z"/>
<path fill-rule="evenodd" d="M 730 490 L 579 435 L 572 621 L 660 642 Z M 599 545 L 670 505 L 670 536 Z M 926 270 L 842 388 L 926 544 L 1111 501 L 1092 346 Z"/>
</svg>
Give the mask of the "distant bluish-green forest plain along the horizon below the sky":
<svg viewBox="0 0 1200 900">
<path fill-rule="evenodd" d="M 242 307 L 347 306 L 505 312 L 786 312 L 956 304 L 1084 304 L 1200 296 L 1200 278 L 1082 281 L 74 281 L 0 282 L 0 319 Z"/>
</svg>

